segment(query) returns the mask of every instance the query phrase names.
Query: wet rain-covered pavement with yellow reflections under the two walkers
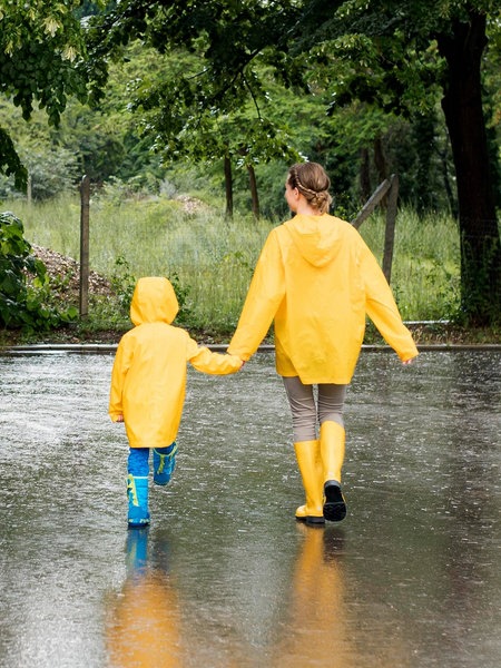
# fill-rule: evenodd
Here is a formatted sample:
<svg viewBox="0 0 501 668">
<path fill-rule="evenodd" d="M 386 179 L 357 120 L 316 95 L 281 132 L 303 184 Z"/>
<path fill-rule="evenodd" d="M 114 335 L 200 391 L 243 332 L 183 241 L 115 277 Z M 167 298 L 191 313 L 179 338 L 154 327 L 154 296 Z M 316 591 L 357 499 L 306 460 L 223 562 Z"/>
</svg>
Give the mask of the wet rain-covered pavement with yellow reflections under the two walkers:
<svg viewBox="0 0 501 668">
<path fill-rule="evenodd" d="M 127 531 L 111 355 L 0 355 L 0 666 L 501 665 L 501 353 L 364 352 L 348 515 L 303 490 L 273 356 L 190 370 L 171 483 Z"/>
</svg>

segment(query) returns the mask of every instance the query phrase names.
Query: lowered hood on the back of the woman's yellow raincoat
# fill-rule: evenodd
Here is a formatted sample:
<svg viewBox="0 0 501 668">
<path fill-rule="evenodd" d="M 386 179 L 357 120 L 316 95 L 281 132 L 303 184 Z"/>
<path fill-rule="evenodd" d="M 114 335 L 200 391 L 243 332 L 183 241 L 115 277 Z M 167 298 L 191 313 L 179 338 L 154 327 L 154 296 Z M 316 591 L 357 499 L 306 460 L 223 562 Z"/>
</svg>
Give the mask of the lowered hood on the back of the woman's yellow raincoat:
<svg viewBox="0 0 501 668">
<path fill-rule="evenodd" d="M 342 246 L 338 219 L 322 216 L 297 215 L 284 223 L 299 255 L 314 267 L 331 263 Z"/>
</svg>

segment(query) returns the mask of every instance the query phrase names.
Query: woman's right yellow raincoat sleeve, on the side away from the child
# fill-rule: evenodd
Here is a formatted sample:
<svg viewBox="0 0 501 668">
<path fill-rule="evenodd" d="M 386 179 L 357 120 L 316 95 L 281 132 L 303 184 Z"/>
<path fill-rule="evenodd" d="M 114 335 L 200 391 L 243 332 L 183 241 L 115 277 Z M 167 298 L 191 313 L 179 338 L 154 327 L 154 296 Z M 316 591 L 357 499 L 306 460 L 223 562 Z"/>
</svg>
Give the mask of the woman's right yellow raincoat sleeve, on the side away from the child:
<svg viewBox="0 0 501 668">
<path fill-rule="evenodd" d="M 402 362 L 412 360 L 418 355 L 418 348 L 411 332 L 402 322 L 386 278 L 365 243 L 362 246 L 361 269 L 369 317 Z"/>
</svg>

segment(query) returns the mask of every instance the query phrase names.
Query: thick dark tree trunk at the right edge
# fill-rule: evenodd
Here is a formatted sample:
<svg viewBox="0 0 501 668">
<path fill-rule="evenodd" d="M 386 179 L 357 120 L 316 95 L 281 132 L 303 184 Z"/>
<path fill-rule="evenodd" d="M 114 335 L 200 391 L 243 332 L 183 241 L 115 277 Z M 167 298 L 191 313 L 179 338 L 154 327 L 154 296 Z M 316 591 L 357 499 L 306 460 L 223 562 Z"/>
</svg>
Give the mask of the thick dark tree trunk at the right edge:
<svg viewBox="0 0 501 668">
<path fill-rule="evenodd" d="M 470 12 L 438 43 L 448 62 L 442 108 L 458 183 L 461 306 L 471 324 L 490 325 L 501 317 L 501 243 L 481 95 L 485 17 Z"/>
</svg>

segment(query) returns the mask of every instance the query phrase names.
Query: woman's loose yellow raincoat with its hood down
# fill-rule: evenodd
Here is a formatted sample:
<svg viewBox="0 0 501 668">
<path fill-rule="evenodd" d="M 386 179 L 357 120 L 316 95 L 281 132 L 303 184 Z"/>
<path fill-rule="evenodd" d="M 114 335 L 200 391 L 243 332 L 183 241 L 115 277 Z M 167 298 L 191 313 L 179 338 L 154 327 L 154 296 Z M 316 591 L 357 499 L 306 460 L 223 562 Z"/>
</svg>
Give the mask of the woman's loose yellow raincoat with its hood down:
<svg viewBox="0 0 501 668">
<path fill-rule="evenodd" d="M 248 360 L 275 321 L 279 375 L 348 384 L 366 315 L 402 362 L 418 355 L 358 232 L 328 214 L 297 215 L 269 233 L 228 353 Z"/>
</svg>

